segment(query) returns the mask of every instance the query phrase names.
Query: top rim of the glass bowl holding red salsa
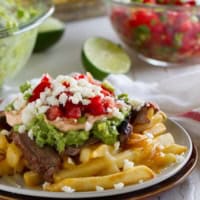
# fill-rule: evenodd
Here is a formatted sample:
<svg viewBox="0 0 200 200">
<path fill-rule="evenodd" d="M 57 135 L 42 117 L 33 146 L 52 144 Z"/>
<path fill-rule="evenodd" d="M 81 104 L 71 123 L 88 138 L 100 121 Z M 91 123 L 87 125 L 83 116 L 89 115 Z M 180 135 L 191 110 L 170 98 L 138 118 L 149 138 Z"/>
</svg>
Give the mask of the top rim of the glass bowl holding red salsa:
<svg viewBox="0 0 200 200">
<path fill-rule="evenodd" d="M 174 11 L 191 11 L 191 12 L 200 12 L 200 5 L 197 6 L 177 6 L 177 5 L 162 5 L 162 4 L 148 4 L 140 2 L 122 2 L 119 0 L 104 0 L 106 4 L 115 4 L 124 7 L 144 7 L 151 9 L 164 9 L 164 10 L 174 10 Z"/>
</svg>

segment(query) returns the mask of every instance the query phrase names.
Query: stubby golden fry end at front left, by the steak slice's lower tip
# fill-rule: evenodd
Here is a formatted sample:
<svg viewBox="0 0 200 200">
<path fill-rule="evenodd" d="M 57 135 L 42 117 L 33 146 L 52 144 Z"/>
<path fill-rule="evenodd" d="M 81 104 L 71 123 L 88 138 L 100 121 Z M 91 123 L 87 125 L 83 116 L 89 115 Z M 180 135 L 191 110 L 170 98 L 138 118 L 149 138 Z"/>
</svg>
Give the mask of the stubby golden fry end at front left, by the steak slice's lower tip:
<svg viewBox="0 0 200 200">
<path fill-rule="evenodd" d="M 24 173 L 24 182 L 29 187 L 38 186 L 43 182 L 41 176 L 33 171 L 28 171 Z"/>
</svg>

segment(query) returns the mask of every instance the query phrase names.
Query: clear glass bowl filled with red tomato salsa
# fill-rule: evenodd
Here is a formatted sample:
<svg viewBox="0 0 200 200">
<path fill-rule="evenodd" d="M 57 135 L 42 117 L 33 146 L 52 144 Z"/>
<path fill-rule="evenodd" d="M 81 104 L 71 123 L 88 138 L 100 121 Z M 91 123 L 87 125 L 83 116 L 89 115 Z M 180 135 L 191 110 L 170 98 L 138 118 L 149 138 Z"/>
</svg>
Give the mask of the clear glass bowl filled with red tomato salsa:
<svg viewBox="0 0 200 200">
<path fill-rule="evenodd" d="M 157 66 L 200 62 L 200 7 L 106 0 L 112 25 L 142 60 Z"/>
</svg>

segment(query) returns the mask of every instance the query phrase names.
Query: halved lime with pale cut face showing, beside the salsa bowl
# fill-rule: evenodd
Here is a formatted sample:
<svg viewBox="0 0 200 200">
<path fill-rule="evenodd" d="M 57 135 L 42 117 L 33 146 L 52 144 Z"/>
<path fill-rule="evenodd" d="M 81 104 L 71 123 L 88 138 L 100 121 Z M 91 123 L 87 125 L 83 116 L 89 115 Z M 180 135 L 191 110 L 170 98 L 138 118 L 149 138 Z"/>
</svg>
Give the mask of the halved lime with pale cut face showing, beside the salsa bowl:
<svg viewBox="0 0 200 200">
<path fill-rule="evenodd" d="M 82 64 L 96 79 L 102 80 L 109 74 L 128 72 L 131 60 L 121 46 L 105 38 L 93 37 L 83 45 Z"/>
</svg>

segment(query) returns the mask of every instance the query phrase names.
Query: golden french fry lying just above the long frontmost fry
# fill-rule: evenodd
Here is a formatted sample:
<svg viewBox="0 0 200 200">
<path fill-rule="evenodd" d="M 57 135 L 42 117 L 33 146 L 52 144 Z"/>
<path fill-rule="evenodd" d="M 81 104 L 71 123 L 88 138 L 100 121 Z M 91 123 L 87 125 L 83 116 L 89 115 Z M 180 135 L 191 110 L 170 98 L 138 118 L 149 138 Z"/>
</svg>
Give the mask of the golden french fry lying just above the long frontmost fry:
<svg viewBox="0 0 200 200">
<path fill-rule="evenodd" d="M 109 164 L 109 159 L 105 157 L 92 159 L 87 163 L 77 165 L 75 168 L 59 171 L 54 174 L 54 181 L 58 182 L 64 178 L 94 176 L 107 168 Z"/>
</svg>

